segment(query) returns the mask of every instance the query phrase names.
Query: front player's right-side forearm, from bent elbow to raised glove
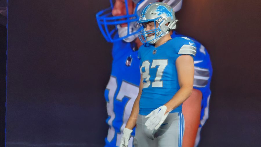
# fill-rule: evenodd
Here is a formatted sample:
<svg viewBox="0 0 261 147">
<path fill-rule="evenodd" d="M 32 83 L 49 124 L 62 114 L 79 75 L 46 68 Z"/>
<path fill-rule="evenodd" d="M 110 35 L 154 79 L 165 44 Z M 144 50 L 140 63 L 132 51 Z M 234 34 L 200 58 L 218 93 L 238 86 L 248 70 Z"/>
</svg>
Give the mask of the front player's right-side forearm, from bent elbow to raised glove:
<svg viewBox="0 0 261 147">
<path fill-rule="evenodd" d="M 178 106 L 180 106 L 189 96 L 191 95 L 193 90 L 193 86 L 183 86 L 181 87 L 177 93 L 169 100 L 165 106 L 167 106 L 167 111 L 174 110 Z"/>
</svg>

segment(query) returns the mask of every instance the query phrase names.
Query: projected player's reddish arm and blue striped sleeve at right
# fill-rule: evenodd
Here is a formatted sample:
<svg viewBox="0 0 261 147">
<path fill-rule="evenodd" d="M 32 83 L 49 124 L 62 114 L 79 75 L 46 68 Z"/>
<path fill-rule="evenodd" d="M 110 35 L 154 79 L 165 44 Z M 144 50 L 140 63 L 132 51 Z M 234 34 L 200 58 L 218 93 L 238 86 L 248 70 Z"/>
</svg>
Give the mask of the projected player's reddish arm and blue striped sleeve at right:
<svg viewBox="0 0 261 147">
<path fill-rule="evenodd" d="M 202 62 L 195 64 L 194 75 L 197 76 L 197 78 L 194 78 L 194 89 L 191 96 L 186 101 L 184 101 L 182 105 L 182 112 L 184 114 L 186 122 L 182 142 L 183 147 L 193 147 L 197 145 L 195 144 L 196 138 L 200 138 L 199 136 L 197 136 L 199 135 L 197 133 L 200 125 L 200 115 L 202 115 L 202 112 L 204 113 L 204 109 L 202 110 L 202 107 L 204 108 L 204 106 L 202 106 L 201 104 L 204 104 L 206 98 L 203 99 L 204 96 L 201 90 L 197 90 L 195 89 L 195 87 L 200 89 L 204 87 L 205 90 L 207 84 L 209 84 L 210 82 L 209 78 L 211 78 L 212 75 L 211 61 L 209 59 L 207 50 L 201 44 L 197 44 L 197 48 L 199 48 L 199 50 L 197 52 L 197 58 L 195 58 L 195 60 L 202 60 Z"/>
</svg>

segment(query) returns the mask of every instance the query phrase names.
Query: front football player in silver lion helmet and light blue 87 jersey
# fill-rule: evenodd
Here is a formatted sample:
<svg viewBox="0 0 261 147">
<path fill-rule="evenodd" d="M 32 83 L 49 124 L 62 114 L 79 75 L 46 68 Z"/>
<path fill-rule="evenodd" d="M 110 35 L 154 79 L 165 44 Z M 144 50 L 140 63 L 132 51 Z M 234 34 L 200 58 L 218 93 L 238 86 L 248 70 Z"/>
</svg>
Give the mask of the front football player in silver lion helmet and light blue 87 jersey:
<svg viewBox="0 0 261 147">
<path fill-rule="evenodd" d="M 181 147 L 184 133 L 182 103 L 193 90 L 195 43 L 186 37 L 171 38 L 176 28 L 173 9 L 162 2 L 146 6 L 138 23 L 140 85 L 120 147 L 128 146 L 136 125 L 135 147 Z"/>
</svg>

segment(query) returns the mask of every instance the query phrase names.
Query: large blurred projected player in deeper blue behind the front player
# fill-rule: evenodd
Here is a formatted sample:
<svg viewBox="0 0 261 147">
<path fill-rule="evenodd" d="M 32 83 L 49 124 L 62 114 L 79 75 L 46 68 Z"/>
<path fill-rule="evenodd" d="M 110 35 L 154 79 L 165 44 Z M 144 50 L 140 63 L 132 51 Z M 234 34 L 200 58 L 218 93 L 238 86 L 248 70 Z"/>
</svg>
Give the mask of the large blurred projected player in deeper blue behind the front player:
<svg viewBox="0 0 261 147">
<path fill-rule="evenodd" d="M 105 90 L 109 125 L 105 138 L 106 146 L 119 146 L 123 129 L 135 98 L 139 91 L 139 59 L 137 50 L 142 45 L 137 38 L 139 32 L 140 11 L 156 0 L 110 0 L 110 8 L 97 13 L 97 22 L 105 39 L 113 42 L 111 77 Z M 182 0 L 163 0 L 175 12 L 180 10 Z M 186 37 L 173 31 L 172 38 Z M 197 47 L 194 58 L 194 84 L 191 96 L 183 103 L 182 112 L 185 117 L 185 132 L 183 146 L 197 146 L 200 140 L 200 130 L 208 118 L 208 104 L 211 91 L 209 89 L 212 67 L 209 54 L 202 44 L 192 39 Z M 133 146 L 131 133 L 129 146 Z M 197 136 L 197 137 L 196 137 Z"/>
</svg>

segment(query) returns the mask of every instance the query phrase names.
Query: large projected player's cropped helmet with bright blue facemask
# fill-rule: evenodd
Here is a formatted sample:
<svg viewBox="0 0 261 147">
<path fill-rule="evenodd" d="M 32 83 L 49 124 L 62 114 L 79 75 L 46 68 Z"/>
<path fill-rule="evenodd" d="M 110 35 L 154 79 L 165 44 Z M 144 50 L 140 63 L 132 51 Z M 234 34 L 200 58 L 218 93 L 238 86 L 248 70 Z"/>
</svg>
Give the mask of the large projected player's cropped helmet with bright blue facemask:
<svg viewBox="0 0 261 147">
<path fill-rule="evenodd" d="M 130 0 L 129 0 L 130 1 Z M 139 26 L 139 15 L 141 11 L 150 3 L 158 0 L 132 0 L 136 4 L 133 14 L 129 14 L 128 11 L 128 0 L 125 0 L 126 15 L 113 16 L 112 10 L 114 8 L 113 1 L 110 0 L 110 7 L 99 11 L 96 14 L 98 26 L 102 32 L 102 35 L 108 42 L 115 42 L 124 40 L 131 42 L 135 40 L 140 31 Z M 182 0 L 163 0 L 163 3 L 170 5 L 175 12 L 180 10 Z M 127 24 L 126 27 L 121 27 L 121 24 Z M 116 37 L 118 33 L 119 37 Z M 116 35 L 116 36 L 115 36 Z"/>
</svg>

